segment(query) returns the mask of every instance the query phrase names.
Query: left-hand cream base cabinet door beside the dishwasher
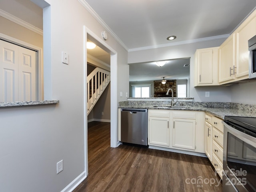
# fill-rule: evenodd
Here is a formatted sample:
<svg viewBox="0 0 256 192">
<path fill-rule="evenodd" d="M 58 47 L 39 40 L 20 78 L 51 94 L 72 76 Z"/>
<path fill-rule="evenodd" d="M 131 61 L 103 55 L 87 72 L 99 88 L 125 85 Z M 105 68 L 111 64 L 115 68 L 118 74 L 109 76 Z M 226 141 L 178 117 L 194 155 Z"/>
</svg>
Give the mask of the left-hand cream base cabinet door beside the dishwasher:
<svg viewBox="0 0 256 192">
<path fill-rule="evenodd" d="M 169 146 L 169 118 L 149 118 L 149 144 Z"/>
</svg>

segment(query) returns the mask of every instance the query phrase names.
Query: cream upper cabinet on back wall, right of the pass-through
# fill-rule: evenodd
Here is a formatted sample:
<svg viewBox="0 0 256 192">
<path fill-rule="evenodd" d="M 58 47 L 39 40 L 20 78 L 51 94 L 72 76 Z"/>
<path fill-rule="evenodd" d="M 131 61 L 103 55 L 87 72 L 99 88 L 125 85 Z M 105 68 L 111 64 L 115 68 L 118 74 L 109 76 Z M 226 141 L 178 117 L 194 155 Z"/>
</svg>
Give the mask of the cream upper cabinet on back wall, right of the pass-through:
<svg viewBox="0 0 256 192">
<path fill-rule="evenodd" d="M 198 49 L 195 53 L 195 86 L 218 85 L 218 47 Z"/>
</svg>

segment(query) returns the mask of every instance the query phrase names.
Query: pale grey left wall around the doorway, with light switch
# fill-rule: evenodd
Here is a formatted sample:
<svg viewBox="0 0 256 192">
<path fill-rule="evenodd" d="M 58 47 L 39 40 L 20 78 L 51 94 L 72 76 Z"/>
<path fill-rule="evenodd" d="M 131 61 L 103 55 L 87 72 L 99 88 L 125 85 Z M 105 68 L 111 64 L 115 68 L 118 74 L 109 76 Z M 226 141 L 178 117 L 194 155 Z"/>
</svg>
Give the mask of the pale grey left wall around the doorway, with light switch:
<svg viewBox="0 0 256 192">
<path fill-rule="evenodd" d="M 86 175 L 83 27 L 99 38 L 105 29 L 77 0 L 47 2 L 52 47 L 50 63 L 44 60 L 45 92 L 60 103 L 0 108 L 1 192 L 60 192 Z M 110 34 L 106 44 L 118 53 L 117 89 L 128 92 L 127 52 Z M 68 65 L 61 62 L 62 51 L 69 55 Z M 64 170 L 56 174 L 60 160 Z"/>
</svg>

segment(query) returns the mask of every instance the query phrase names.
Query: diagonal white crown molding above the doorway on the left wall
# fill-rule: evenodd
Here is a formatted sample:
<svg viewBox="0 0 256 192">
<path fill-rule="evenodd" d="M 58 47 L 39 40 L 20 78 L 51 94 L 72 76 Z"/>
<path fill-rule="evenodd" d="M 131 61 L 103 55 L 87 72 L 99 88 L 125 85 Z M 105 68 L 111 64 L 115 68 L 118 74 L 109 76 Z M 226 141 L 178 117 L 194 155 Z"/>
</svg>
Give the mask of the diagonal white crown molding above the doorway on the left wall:
<svg viewBox="0 0 256 192">
<path fill-rule="evenodd" d="M 92 7 L 85 0 L 78 0 L 86 8 L 86 10 L 114 37 L 114 39 L 126 50 L 126 45 L 116 36 L 116 34 L 108 27 L 108 25 L 98 16 L 98 14 L 92 9 Z"/>
</svg>

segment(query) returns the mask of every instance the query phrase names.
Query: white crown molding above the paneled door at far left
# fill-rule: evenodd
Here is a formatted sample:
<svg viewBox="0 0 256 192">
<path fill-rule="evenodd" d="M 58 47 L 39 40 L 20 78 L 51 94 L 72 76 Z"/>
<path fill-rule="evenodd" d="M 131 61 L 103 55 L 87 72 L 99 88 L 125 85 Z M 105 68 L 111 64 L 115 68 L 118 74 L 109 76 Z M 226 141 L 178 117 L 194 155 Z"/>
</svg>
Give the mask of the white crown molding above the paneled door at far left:
<svg viewBox="0 0 256 192">
<path fill-rule="evenodd" d="M 16 24 L 19 24 L 20 26 L 23 26 L 29 30 L 32 30 L 40 35 L 43 35 L 43 30 L 37 28 L 36 26 L 34 25 L 31 25 L 29 24 L 28 22 L 8 13 L 8 12 L 5 12 L 4 10 L 0 9 L 0 16 L 12 21 L 12 22 L 15 22 Z"/>
</svg>

